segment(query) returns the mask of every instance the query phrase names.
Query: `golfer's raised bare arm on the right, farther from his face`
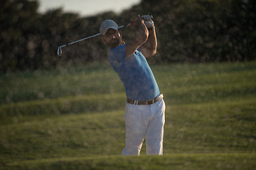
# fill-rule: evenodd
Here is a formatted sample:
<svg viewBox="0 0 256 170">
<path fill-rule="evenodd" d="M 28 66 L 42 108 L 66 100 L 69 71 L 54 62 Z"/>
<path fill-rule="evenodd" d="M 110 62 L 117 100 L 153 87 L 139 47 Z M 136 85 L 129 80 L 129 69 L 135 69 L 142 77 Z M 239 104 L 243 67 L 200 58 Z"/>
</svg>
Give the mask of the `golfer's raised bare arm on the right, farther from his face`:
<svg viewBox="0 0 256 170">
<path fill-rule="evenodd" d="M 156 54 L 157 40 L 156 31 L 154 29 L 149 30 L 148 40 L 140 47 L 140 51 L 144 57 L 151 57 Z"/>
</svg>

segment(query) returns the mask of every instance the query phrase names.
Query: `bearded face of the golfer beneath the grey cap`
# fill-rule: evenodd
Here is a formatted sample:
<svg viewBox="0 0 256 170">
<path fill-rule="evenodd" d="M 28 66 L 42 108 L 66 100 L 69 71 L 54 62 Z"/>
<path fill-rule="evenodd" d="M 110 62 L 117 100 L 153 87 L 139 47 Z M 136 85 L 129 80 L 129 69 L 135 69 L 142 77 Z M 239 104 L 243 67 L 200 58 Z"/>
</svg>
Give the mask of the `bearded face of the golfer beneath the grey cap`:
<svg viewBox="0 0 256 170">
<path fill-rule="evenodd" d="M 118 30 L 108 29 L 104 35 L 104 40 L 107 46 L 114 48 L 122 44 L 122 38 Z"/>
</svg>

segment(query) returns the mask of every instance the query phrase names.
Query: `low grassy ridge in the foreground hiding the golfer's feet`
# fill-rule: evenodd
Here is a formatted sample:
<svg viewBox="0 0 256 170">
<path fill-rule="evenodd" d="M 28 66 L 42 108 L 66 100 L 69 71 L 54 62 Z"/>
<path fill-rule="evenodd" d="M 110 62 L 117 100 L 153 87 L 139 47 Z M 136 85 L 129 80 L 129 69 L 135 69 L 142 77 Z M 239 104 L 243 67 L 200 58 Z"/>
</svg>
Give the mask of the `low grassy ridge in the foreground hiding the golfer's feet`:
<svg viewBox="0 0 256 170">
<path fill-rule="evenodd" d="M 10 169 L 253 169 L 256 154 L 168 154 L 161 157 L 98 156 L 14 162 Z"/>
</svg>

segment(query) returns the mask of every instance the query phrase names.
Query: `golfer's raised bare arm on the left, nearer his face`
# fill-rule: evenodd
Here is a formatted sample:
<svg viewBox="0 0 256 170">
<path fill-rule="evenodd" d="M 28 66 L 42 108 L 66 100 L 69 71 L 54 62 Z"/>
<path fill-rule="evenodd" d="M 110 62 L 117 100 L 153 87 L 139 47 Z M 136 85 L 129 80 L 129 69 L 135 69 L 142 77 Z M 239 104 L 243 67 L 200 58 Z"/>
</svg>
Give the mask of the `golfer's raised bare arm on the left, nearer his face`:
<svg viewBox="0 0 256 170">
<path fill-rule="evenodd" d="M 136 36 L 133 40 L 129 41 L 125 45 L 126 57 L 130 57 L 141 45 L 146 42 L 149 36 L 149 30 L 146 28 L 144 21 L 139 22 L 139 28 L 136 32 Z"/>
</svg>

